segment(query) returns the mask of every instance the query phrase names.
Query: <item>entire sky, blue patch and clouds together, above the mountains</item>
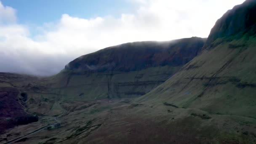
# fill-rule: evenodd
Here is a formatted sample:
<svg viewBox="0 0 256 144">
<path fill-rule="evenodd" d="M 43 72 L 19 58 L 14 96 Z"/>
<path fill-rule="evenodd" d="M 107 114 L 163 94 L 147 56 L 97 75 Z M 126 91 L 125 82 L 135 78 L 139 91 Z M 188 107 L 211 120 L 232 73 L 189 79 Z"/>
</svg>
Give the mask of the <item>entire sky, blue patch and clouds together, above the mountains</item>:
<svg viewBox="0 0 256 144">
<path fill-rule="evenodd" d="M 122 43 L 208 37 L 245 0 L 0 0 L 0 72 L 48 76 Z"/>
</svg>

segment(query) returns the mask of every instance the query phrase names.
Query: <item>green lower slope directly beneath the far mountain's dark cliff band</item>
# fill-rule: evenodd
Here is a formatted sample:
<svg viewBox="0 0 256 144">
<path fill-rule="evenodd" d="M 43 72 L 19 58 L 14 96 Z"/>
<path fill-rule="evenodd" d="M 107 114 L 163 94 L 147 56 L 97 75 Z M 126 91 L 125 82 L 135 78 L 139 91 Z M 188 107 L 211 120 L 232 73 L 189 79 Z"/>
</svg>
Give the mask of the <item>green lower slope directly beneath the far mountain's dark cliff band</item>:
<svg viewBox="0 0 256 144">
<path fill-rule="evenodd" d="M 136 97 L 155 88 L 181 67 L 152 67 L 132 72 L 60 73 L 48 86 L 67 95 L 65 99 Z"/>
</svg>

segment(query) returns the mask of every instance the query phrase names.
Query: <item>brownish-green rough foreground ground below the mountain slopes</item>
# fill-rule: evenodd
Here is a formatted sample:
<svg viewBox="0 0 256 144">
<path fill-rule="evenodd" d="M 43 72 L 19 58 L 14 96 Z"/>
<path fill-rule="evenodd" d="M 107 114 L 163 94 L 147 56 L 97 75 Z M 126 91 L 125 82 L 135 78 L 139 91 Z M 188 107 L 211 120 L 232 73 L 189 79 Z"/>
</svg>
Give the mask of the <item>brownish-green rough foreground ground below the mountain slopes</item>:
<svg viewBox="0 0 256 144">
<path fill-rule="evenodd" d="M 80 104 L 78 102 L 77 104 Z M 75 103 L 72 103 L 74 107 Z M 256 119 L 132 99 L 88 102 L 0 136 L 0 144 L 253 144 Z"/>
</svg>

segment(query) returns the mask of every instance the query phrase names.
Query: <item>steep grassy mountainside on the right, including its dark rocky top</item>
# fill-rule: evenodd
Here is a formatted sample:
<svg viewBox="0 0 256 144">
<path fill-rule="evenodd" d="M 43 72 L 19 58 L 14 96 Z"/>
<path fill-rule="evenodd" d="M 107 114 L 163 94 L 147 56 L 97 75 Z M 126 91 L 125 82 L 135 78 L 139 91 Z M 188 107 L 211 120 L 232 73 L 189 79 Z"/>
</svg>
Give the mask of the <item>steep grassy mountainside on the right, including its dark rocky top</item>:
<svg viewBox="0 0 256 144">
<path fill-rule="evenodd" d="M 224 14 L 208 48 L 140 100 L 256 118 L 255 3 L 247 0 Z"/>
</svg>

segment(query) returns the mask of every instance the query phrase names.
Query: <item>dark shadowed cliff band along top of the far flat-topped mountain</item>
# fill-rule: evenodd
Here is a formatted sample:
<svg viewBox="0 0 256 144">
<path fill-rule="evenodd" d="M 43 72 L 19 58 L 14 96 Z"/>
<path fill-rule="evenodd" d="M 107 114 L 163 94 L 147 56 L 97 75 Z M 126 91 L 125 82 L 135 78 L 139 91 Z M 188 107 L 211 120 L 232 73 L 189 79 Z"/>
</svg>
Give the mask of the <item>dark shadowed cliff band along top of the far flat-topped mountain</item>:
<svg viewBox="0 0 256 144">
<path fill-rule="evenodd" d="M 197 56 L 204 41 L 192 37 L 168 42 L 126 43 L 81 56 L 67 64 L 65 69 L 129 72 L 165 65 L 181 66 Z"/>
</svg>

